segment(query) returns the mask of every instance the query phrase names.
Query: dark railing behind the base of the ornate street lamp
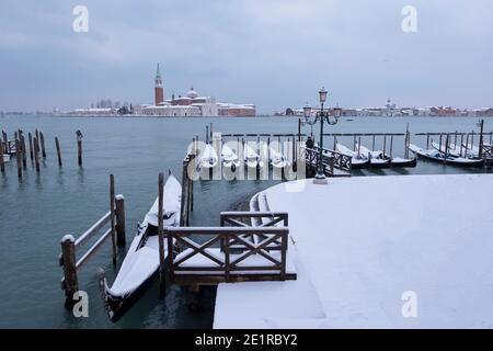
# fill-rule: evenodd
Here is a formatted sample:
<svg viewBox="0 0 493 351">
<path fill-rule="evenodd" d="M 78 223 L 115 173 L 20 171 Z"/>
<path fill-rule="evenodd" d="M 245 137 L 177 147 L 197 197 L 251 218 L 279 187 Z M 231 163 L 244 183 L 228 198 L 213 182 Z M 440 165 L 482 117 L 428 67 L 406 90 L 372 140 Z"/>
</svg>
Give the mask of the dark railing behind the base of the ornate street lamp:
<svg viewBox="0 0 493 351">
<path fill-rule="evenodd" d="M 311 167 L 317 168 L 319 155 L 320 148 L 318 146 L 312 149 L 300 146 L 300 157 L 305 157 L 307 165 L 310 165 Z M 328 176 L 334 176 L 334 169 L 351 173 L 351 156 L 325 148 L 323 149 L 322 163 Z"/>
</svg>

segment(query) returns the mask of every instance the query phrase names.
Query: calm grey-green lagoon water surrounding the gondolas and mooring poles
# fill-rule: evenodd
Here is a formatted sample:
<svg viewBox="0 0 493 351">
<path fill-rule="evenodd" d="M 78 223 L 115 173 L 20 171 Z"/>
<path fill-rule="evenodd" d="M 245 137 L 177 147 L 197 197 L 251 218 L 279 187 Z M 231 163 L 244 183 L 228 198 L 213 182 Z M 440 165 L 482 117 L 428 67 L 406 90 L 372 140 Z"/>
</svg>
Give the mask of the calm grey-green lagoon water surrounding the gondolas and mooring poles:
<svg viewBox="0 0 493 351">
<path fill-rule="evenodd" d="M 157 196 L 158 173 L 171 169 L 179 178 L 185 148 L 193 136 L 205 136 L 214 123 L 222 133 L 296 133 L 297 118 L 128 118 L 0 116 L 0 129 L 12 138 L 16 128 L 25 134 L 44 132 L 47 158 L 36 174 L 30 159 L 20 182 L 15 161 L 0 174 L 0 327 L 1 328 L 198 328 L 211 327 L 215 290 L 202 297 L 203 310 L 192 312 L 192 295 L 179 286 L 168 286 L 163 299 L 153 284 L 118 322 L 108 321 L 100 298 L 96 269 L 106 270 L 110 282 L 115 274 L 108 246 L 98 253 L 80 275 L 80 288 L 89 294 L 89 318 L 74 318 L 64 307 L 58 267 L 60 238 L 76 237 L 103 215 L 108 207 L 108 174 L 115 174 L 116 192 L 125 195 L 127 240 L 134 236 Z M 342 120 L 329 131 L 340 133 L 411 133 L 478 129 L 477 118 L 383 118 Z M 485 131 L 493 120 L 485 121 Z M 74 132 L 84 134 L 83 168 L 77 167 Z M 318 131 L 318 128 L 316 128 Z M 310 132 L 305 127 L 303 132 Z M 58 168 L 54 138 L 58 136 L 64 158 Z M 352 146 L 352 139 L 340 141 Z M 377 145 L 381 146 L 382 140 Z M 328 138 L 325 145 L 332 145 Z M 424 138 L 412 138 L 424 146 Z M 366 140 L 371 146 L 371 140 Z M 394 155 L 401 154 L 403 139 L 394 140 Z M 482 172 L 475 170 L 474 172 Z M 357 176 L 472 172 L 420 161 L 416 169 L 360 171 Z M 219 212 L 273 181 L 198 182 L 195 186 L 194 225 L 218 225 Z M 121 263 L 124 251 L 119 254 Z"/>
</svg>

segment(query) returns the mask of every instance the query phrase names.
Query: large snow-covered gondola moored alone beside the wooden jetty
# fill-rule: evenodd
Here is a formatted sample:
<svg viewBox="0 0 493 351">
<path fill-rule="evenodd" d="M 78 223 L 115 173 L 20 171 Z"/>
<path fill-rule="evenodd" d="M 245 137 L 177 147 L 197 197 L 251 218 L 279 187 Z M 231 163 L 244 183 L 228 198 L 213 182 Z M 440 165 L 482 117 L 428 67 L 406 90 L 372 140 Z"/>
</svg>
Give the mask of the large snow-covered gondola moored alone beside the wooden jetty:
<svg viewBox="0 0 493 351">
<path fill-rule="evenodd" d="M 182 185 L 169 176 L 163 192 L 163 227 L 180 225 Z M 168 254 L 168 242 L 164 240 L 164 254 Z M 158 236 L 158 199 L 147 213 L 144 222 L 138 225 L 137 235 L 131 241 L 118 274 L 110 287 L 104 276 L 100 287 L 106 310 L 112 321 L 122 315 L 139 297 L 146 286 L 159 270 L 159 236 Z"/>
</svg>

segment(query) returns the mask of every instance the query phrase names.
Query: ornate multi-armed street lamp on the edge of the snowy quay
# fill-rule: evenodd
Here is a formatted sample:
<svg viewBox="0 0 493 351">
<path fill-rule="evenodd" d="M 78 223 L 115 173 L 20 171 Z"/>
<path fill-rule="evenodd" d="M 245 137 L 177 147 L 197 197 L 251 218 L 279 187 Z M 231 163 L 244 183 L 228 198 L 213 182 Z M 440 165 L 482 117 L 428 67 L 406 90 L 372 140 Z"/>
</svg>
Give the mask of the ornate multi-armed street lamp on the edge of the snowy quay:
<svg viewBox="0 0 493 351">
<path fill-rule="evenodd" d="M 303 107 L 303 115 L 305 115 L 305 122 L 309 125 L 314 125 L 317 122 L 320 121 L 320 141 L 319 141 L 319 160 L 318 160 L 318 168 L 317 168 L 317 176 L 314 179 L 316 184 L 326 184 L 325 173 L 323 171 L 323 162 L 322 162 L 322 155 L 323 155 L 323 122 L 325 121 L 329 125 L 335 125 L 339 122 L 339 117 L 341 116 L 342 109 L 336 107 L 334 109 L 334 120 L 330 118 L 329 112 L 325 112 L 323 110 L 323 104 L 326 101 L 326 94 L 328 91 L 325 88 L 322 87 L 319 91 L 319 100 L 320 100 L 320 111 L 318 111 L 314 115 L 314 117 L 311 116 L 311 107 L 309 105 L 306 105 Z"/>
</svg>

